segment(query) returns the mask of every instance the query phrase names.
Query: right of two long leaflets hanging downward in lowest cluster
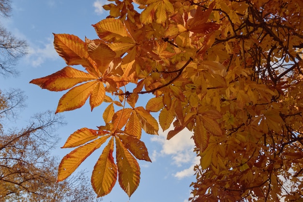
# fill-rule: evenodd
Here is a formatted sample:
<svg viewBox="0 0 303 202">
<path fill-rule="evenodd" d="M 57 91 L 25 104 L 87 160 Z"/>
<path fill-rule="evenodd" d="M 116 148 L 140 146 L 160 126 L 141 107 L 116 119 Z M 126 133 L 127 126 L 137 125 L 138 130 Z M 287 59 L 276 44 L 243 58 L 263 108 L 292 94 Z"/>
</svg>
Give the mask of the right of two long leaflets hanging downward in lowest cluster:
<svg viewBox="0 0 303 202">
<path fill-rule="evenodd" d="M 123 146 L 121 140 L 116 138 L 117 166 L 119 184 L 130 197 L 140 183 L 140 167 L 133 155 Z"/>
</svg>

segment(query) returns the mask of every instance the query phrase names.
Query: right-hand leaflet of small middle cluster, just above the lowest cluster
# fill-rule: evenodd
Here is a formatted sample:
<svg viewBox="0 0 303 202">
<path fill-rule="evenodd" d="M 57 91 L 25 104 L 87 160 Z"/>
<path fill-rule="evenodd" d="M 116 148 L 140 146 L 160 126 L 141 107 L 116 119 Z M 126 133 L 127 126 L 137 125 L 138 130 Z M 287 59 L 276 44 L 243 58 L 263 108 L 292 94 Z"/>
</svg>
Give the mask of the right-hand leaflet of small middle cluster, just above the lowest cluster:
<svg viewBox="0 0 303 202">
<path fill-rule="evenodd" d="M 145 110 L 143 107 L 137 107 L 135 110 L 143 130 L 148 134 L 158 135 L 158 122 L 152 117 L 150 112 Z"/>
</svg>

